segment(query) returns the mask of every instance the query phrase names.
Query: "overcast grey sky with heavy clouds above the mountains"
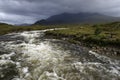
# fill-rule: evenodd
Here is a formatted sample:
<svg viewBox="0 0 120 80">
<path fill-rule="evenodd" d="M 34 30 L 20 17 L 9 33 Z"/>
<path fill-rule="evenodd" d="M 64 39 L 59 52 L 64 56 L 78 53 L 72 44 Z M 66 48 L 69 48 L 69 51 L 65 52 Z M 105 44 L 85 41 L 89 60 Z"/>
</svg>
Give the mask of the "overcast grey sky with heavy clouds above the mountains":
<svg viewBox="0 0 120 80">
<path fill-rule="evenodd" d="M 0 0 L 0 22 L 33 23 L 63 12 L 120 16 L 120 0 Z"/>
</svg>

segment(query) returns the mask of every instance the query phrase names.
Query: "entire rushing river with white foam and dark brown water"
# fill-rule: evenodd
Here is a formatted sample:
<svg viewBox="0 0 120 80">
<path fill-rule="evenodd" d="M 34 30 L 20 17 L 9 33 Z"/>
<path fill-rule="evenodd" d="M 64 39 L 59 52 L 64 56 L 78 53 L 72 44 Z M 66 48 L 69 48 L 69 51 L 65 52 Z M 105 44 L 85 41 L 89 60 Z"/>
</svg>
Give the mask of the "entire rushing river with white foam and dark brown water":
<svg viewBox="0 0 120 80">
<path fill-rule="evenodd" d="M 0 80 L 120 80 L 119 60 L 45 38 L 45 31 L 0 36 Z"/>
</svg>

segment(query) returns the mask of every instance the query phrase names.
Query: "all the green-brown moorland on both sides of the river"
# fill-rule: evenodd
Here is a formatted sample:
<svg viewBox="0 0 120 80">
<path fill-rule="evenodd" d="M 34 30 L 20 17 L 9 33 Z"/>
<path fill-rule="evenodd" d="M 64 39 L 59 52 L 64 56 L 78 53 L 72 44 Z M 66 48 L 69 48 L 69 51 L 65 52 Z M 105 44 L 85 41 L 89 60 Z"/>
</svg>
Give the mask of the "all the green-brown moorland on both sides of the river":
<svg viewBox="0 0 120 80">
<path fill-rule="evenodd" d="M 0 35 L 30 30 L 41 30 L 50 28 L 67 28 L 64 30 L 47 31 L 46 36 L 52 36 L 68 40 L 72 43 L 85 43 L 90 46 L 116 46 L 120 47 L 120 22 L 107 24 L 59 24 L 59 25 L 31 25 L 12 26 L 0 23 Z"/>
</svg>

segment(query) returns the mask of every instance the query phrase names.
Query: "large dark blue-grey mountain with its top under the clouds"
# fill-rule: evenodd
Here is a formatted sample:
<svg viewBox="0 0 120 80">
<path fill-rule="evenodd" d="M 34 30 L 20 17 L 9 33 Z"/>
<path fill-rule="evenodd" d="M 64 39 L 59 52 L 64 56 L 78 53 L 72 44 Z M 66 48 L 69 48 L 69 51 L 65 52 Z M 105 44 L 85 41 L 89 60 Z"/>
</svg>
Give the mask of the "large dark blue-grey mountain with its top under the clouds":
<svg viewBox="0 0 120 80">
<path fill-rule="evenodd" d="M 120 21 L 120 17 L 112 17 L 99 13 L 62 13 L 42 19 L 35 24 L 70 24 L 70 23 L 105 23 Z"/>
</svg>

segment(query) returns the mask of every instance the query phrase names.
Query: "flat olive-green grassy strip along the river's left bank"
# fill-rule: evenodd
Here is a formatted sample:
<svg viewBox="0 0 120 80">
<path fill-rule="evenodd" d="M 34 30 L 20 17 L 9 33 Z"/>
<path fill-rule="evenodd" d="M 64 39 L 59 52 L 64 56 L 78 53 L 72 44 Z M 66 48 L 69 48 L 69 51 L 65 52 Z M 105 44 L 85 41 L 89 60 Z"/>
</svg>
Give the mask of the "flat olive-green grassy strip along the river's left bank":
<svg viewBox="0 0 120 80">
<path fill-rule="evenodd" d="M 7 33 L 12 33 L 12 32 L 22 32 L 22 31 L 31 31 L 31 30 L 43 30 L 43 29 L 50 29 L 50 28 L 55 28 L 58 26 L 53 26 L 53 25 L 47 25 L 47 26 L 42 26 L 42 25 L 31 25 L 31 26 L 12 26 L 4 23 L 0 23 L 0 35 L 4 35 Z"/>
</svg>

